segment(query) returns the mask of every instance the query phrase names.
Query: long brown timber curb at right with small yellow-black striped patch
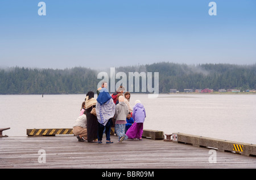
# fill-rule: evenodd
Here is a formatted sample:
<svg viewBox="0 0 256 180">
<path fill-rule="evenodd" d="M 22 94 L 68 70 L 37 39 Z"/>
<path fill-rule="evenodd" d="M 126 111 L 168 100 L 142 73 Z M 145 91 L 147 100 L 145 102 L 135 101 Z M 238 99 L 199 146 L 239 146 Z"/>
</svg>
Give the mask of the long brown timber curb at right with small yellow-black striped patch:
<svg viewBox="0 0 256 180">
<path fill-rule="evenodd" d="M 185 133 L 172 133 L 172 142 L 190 144 L 204 148 L 212 148 L 222 152 L 240 153 L 245 156 L 256 156 L 255 144 L 213 139 L 209 137 L 188 135 Z"/>
</svg>

